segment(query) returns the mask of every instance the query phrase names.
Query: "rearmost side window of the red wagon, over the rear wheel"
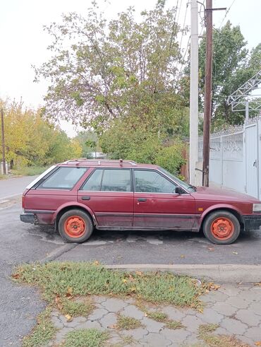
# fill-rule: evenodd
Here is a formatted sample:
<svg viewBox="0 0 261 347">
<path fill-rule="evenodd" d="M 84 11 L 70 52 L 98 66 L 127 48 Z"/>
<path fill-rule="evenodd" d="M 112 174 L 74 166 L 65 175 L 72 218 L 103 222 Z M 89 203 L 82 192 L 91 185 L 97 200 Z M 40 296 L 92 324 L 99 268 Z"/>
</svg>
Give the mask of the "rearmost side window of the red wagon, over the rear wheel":
<svg viewBox="0 0 261 347">
<path fill-rule="evenodd" d="M 86 170 L 87 167 L 59 167 L 37 189 L 72 189 Z"/>
</svg>

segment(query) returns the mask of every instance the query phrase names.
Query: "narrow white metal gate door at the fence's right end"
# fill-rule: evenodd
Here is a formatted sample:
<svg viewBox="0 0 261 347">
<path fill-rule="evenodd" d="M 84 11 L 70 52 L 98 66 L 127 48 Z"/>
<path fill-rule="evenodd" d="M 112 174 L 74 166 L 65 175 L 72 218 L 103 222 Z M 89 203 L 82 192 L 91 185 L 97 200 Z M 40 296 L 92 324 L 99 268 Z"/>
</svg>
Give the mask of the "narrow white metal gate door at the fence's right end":
<svg viewBox="0 0 261 347">
<path fill-rule="evenodd" d="M 245 126 L 245 192 L 258 197 L 257 123 Z"/>
</svg>

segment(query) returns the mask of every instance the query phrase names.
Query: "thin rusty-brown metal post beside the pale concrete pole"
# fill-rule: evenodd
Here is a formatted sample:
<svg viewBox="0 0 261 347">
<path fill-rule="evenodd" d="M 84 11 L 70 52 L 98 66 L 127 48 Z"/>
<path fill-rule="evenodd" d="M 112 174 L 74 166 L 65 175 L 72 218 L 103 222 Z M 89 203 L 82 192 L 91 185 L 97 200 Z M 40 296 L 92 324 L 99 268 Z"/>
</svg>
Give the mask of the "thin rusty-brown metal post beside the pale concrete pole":
<svg viewBox="0 0 261 347">
<path fill-rule="evenodd" d="M 205 107 L 203 128 L 203 180 L 209 186 L 210 172 L 210 122 L 212 114 L 212 0 L 206 0 L 206 68 L 205 68 Z"/>
</svg>

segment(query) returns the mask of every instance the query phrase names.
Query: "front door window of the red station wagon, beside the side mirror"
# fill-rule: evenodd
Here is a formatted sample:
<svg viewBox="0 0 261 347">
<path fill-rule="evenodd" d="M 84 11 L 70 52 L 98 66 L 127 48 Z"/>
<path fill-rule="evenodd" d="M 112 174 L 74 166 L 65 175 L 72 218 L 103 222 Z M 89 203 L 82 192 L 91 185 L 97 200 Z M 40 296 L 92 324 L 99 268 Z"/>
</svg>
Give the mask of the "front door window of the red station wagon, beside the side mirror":
<svg viewBox="0 0 261 347">
<path fill-rule="evenodd" d="M 134 170 L 135 192 L 174 193 L 176 184 L 154 170 Z"/>
</svg>

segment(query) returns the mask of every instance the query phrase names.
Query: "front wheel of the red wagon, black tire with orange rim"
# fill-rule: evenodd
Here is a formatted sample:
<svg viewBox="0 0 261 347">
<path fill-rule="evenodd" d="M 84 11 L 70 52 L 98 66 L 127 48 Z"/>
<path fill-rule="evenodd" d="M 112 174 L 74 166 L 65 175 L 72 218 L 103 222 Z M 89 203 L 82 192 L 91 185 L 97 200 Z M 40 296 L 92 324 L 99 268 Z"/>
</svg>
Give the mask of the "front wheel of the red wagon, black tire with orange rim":
<svg viewBox="0 0 261 347">
<path fill-rule="evenodd" d="M 238 218 L 228 211 L 210 213 L 202 225 L 203 233 L 216 245 L 230 245 L 238 238 L 241 230 Z"/>
</svg>

